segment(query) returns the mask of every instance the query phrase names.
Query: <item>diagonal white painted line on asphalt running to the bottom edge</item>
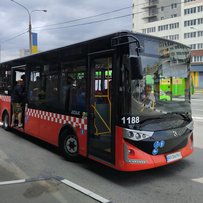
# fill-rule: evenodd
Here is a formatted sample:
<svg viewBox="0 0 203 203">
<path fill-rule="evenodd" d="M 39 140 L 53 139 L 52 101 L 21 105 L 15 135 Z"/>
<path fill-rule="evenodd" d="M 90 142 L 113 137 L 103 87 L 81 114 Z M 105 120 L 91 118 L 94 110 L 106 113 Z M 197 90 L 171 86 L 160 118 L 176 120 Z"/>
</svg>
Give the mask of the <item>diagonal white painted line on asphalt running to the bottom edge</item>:
<svg viewBox="0 0 203 203">
<path fill-rule="evenodd" d="M 82 192 L 82 193 L 84 193 L 84 194 L 86 194 L 86 195 L 88 195 L 88 196 L 90 196 L 90 197 L 92 197 L 92 198 L 94 198 L 95 200 L 98 200 L 102 203 L 110 203 L 109 200 L 107 200 L 107 199 L 97 195 L 96 193 L 94 193 L 90 190 L 87 190 L 87 189 L 85 189 L 85 188 L 83 188 L 83 187 L 81 187 L 81 186 L 79 186 L 79 185 L 77 185 L 77 184 L 75 184 L 69 180 L 63 179 L 63 180 L 61 180 L 61 182 L 74 188 L 74 189 L 76 189 L 76 190 L 78 190 L 78 191 L 80 191 L 80 192 Z"/>
</svg>

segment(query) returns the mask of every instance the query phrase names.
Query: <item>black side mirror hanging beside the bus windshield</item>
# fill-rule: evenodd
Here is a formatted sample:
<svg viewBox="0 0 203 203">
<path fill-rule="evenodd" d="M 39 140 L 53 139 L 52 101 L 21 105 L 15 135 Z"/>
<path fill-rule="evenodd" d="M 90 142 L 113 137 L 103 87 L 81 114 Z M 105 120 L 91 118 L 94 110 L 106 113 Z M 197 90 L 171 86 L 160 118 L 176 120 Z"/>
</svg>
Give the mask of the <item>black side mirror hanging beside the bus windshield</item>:
<svg viewBox="0 0 203 203">
<path fill-rule="evenodd" d="M 142 79 L 142 62 L 140 56 L 130 56 L 131 79 Z"/>
</svg>

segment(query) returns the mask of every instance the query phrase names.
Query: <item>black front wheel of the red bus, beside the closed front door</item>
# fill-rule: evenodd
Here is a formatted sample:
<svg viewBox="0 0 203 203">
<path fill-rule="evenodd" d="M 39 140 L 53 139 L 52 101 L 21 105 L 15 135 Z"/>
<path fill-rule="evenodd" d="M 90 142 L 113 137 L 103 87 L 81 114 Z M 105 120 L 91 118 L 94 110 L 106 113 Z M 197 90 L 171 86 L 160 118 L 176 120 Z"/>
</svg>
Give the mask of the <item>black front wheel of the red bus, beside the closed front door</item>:
<svg viewBox="0 0 203 203">
<path fill-rule="evenodd" d="M 79 142 L 73 132 L 65 129 L 61 133 L 60 150 L 68 161 L 78 161 L 79 159 Z"/>
</svg>

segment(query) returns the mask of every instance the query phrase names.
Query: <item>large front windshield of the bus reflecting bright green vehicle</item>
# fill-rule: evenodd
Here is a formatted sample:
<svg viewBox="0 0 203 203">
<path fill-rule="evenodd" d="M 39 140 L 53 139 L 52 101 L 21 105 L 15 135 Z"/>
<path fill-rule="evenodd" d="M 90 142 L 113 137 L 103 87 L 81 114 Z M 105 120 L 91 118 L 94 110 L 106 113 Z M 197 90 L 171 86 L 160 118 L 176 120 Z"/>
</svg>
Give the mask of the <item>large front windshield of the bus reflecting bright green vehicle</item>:
<svg viewBox="0 0 203 203">
<path fill-rule="evenodd" d="M 148 123 L 150 130 L 153 130 L 152 123 L 159 123 L 159 130 L 163 130 L 191 122 L 190 49 L 160 39 L 145 38 L 141 42 L 143 78 L 128 77 L 126 80 L 129 88 L 124 88 L 125 107 L 121 123 L 144 130 L 147 130 Z M 125 61 L 123 59 L 124 64 Z M 166 124 L 161 125 L 164 121 Z"/>
</svg>

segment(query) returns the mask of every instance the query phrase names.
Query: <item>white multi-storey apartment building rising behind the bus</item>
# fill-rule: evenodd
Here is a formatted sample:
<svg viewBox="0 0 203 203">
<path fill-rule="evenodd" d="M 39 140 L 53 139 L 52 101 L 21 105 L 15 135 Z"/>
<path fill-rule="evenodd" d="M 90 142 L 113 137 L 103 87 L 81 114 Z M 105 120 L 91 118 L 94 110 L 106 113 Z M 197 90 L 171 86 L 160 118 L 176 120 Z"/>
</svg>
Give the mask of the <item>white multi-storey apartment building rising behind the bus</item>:
<svg viewBox="0 0 203 203">
<path fill-rule="evenodd" d="M 132 30 L 190 46 L 191 76 L 203 88 L 203 0 L 133 0 Z"/>
</svg>

